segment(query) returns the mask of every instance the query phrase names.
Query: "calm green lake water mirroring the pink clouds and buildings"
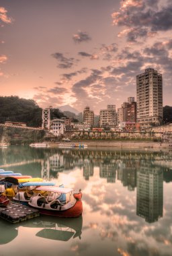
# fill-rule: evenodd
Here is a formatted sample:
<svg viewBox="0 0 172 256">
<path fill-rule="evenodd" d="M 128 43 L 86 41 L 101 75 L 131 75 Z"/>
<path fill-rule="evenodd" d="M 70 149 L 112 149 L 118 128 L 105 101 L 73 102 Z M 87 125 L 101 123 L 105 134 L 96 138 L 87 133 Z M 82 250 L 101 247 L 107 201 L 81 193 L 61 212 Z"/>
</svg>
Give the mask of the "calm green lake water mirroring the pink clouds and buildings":
<svg viewBox="0 0 172 256">
<path fill-rule="evenodd" d="M 0 149 L 0 168 L 83 191 L 83 216 L 0 219 L 0 255 L 171 255 L 172 151 Z"/>
</svg>

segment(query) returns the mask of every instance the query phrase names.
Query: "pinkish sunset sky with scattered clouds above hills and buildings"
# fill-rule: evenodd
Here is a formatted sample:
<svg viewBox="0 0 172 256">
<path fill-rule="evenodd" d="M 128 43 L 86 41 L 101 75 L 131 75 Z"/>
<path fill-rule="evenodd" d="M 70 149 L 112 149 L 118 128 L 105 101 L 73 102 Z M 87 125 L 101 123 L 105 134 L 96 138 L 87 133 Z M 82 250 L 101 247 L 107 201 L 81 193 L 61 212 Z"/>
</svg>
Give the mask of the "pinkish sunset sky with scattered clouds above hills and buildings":
<svg viewBox="0 0 172 256">
<path fill-rule="evenodd" d="M 151 67 L 171 106 L 171 13 L 171 0 L 0 0 L 0 95 L 98 115 Z"/>
</svg>

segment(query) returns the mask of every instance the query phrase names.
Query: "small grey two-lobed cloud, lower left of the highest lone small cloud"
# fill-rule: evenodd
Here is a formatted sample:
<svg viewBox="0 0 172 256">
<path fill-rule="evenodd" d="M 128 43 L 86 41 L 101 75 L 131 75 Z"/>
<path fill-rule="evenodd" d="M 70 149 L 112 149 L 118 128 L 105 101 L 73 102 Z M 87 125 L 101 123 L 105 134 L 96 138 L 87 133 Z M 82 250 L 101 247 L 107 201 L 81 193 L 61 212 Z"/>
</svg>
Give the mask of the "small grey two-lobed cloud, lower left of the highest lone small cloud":
<svg viewBox="0 0 172 256">
<path fill-rule="evenodd" d="M 62 53 L 52 53 L 51 56 L 59 62 L 57 67 L 59 67 L 60 69 L 69 69 L 73 67 L 73 65 L 77 61 L 74 58 L 64 57 Z"/>
</svg>

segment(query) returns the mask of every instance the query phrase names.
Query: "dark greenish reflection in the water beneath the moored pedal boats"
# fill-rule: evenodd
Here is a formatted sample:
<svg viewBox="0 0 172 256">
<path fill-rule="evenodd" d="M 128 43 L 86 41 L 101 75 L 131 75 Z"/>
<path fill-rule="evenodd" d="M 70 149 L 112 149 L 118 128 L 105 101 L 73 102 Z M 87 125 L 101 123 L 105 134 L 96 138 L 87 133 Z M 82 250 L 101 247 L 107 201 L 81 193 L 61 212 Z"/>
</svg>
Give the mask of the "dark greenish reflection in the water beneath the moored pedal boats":
<svg viewBox="0 0 172 256">
<path fill-rule="evenodd" d="M 0 220 L 0 245 L 10 243 L 18 235 L 20 227 L 39 228 L 36 236 L 56 241 L 69 241 L 71 238 L 81 239 L 83 218 L 67 219 L 52 216 L 40 216 L 34 220 L 11 224 Z"/>
</svg>

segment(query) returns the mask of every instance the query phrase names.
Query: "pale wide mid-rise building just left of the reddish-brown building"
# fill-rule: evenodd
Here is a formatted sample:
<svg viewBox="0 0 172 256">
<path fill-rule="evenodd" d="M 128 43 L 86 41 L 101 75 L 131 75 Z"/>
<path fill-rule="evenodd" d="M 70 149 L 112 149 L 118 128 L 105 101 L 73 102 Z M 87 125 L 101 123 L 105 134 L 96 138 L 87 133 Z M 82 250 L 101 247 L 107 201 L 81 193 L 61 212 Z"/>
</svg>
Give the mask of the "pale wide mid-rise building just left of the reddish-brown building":
<svg viewBox="0 0 172 256">
<path fill-rule="evenodd" d="M 101 109 L 99 112 L 100 127 L 109 125 L 114 127 L 117 125 L 116 105 L 107 105 L 107 109 Z"/>
</svg>

